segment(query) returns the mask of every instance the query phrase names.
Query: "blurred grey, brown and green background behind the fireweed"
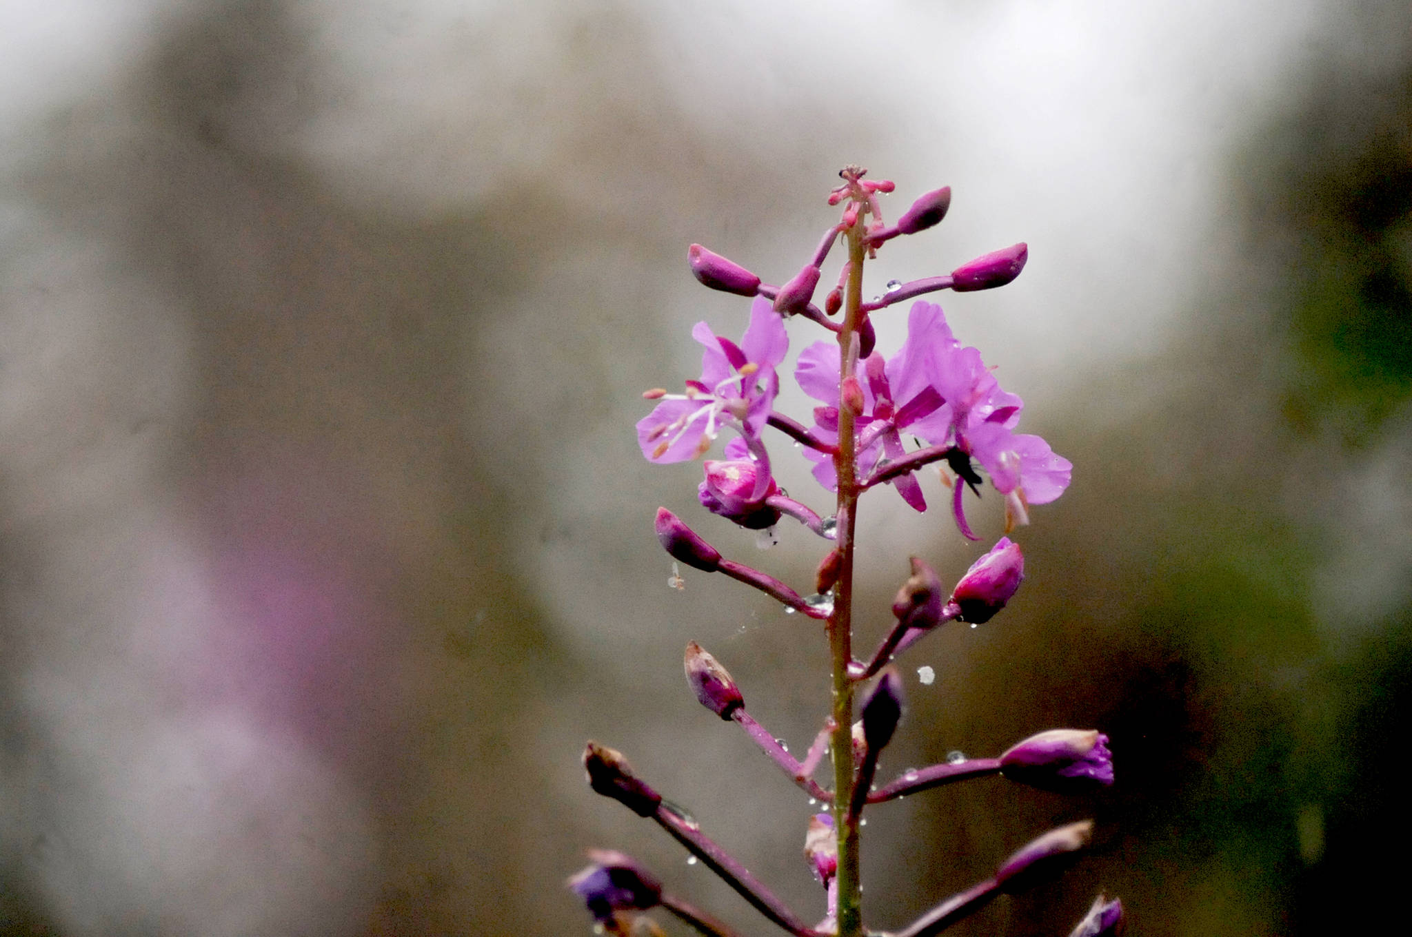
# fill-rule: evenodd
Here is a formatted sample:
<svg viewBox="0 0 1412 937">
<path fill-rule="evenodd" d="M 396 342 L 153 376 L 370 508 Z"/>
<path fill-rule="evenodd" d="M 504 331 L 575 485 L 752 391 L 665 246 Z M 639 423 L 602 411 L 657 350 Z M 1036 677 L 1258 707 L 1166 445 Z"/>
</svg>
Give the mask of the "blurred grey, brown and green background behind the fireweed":
<svg viewBox="0 0 1412 937">
<path fill-rule="evenodd" d="M 744 323 L 686 246 L 786 278 L 846 162 L 897 181 L 892 216 L 955 193 L 871 292 L 1029 243 L 1014 285 L 942 302 L 1075 463 L 1011 608 L 911 652 L 882 770 L 1073 725 L 1118 776 L 874 810 L 870 923 L 1086 816 L 1093 857 L 957 930 L 1065 934 L 1100 889 L 1154 937 L 1391 910 L 1412 10 L 860 7 L 0 3 L 0 933 L 586 934 L 562 881 L 590 845 L 765 933 L 587 790 L 587 738 L 822 914 L 808 803 L 681 652 L 798 749 L 823 638 L 668 588 L 651 516 L 799 586 L 818 540 L 758 553 L 633 423 L 696 375 L 692 323 Z M 867 646 L 908 553 L 950 580 L 1001 529 L 993 497 L 979 546 L 866 511 Z"/>
</svg>

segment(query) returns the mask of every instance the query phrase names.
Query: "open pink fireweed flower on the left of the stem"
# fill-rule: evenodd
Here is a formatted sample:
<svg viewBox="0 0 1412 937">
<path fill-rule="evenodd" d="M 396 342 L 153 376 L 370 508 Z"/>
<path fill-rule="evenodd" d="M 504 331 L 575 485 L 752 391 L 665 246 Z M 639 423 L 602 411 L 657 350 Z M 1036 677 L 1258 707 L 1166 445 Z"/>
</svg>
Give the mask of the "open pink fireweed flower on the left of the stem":
<svg viewBox="0 0 1412 937">
<path fill-rule="evenodd" d="M 650 461 L 686 461 L 705 454 L 726 426 L 744 436 L 757 460 L 765 460 L 760 430 L 770 419 L 779 375 L 775 367 L 789 350 L 789 336 L 770 301 L 757 298 L 750 308 L 750 327 L 740 344 L 714 334 L 705 322 L 696 323 L 692 337 L 700 341 L 700 380 L 686 381 L 685 394 L 650 391 L 661 401 L 637 423 L 637 442 Z M 757 497 L 768 487 L 768 461 L 757 477 Z"/>
</svg>

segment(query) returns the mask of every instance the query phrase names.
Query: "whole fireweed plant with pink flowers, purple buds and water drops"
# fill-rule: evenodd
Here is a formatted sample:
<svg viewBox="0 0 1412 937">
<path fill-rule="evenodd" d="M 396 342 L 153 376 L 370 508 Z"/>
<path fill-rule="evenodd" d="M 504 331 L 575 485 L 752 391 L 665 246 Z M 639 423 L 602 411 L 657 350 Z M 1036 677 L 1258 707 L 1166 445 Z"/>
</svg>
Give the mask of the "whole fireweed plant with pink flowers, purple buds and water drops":
<svg viewBox="0 0 1412 937">
<path fill-rule="evenodd" d="M 693 244 L 692 272 L 706 286 L 751 299 L 750 322 L 740 341 L 714 334 L 706 323 L 692 330 L 705 346 L 699 378 L 683 391 L 644 394 L 655 406 L 638 425 L 642 454 L 654 463 L 678 463 L 705 456 L 723 430 L 730 430 L 723 459 L 706 460 L 700 504 L 743 528 L 771 538 L 788 516 L 816 533 L 827 552 L 819 562 L 815 591 L 801 596 L 778 579 L 727 559 L 666 508 L 657 511 L 657 536 L 671 555 L 672 584 L 679 564 L 724 573 L 761 590 L 795 612 L 822 622 L 833 662 L 832 708 L 802 761 L 746 710 L 741 691 L 726 669 L 696 642 L 686 645 L 686 679 L 696 699 L 722 720 L 740 725 L 803 792 L 810 803 L 829 806 L 803 831 L 803 855 L 825 892 L 825 916 L 809 926 L 753 876 L 700 826 L 640 779 L 620 752 L 589 742 L 583 755 L 593 790 L 613 797 L 666 830 L 693 861 L 723 878 L 770 921 L 796 937 L 890 934 L 926 937 L 984 907 L 1000 893 L 1017 893 L 1063 869 L 1089 842 L 1093 823 L 1052 830 L 1021 847 L 983 882 L 947 897 L 895 931 L 864 927 L 858 888 L 858 838 L 863 810 L 907 794 L 962 780 L 1003 775 L 1049 790 L 1084 792 L 1113 783 L 1107 737 L 1097 731 L 1051 730 L 1014 745 L 998 758 L 953 756 L 946 763 L 908 769 L 899 778 L 874 783 L 878 755 L 892 738 L 902 714 L 902 680 L 890 662 L 949 621 L 990 621 L 1015 594 L 1024 579 L 1019 545 L 1001 538 L 976 560 L 947 593 L 923 560 L 911 559 L 911 574 L 892 603 L 897 622 L 867 659 L 853 655 L 854 531 L 863 495 L 891 487 L 914 509 L 925 511 L 918 474 L 940 468 L 950 490 L 950 511 L 960 533 L 979 539 L 966 521 L 967 490 L 980 494 L 988 480 L 1005 504 L 1005 532 L 1028 524 L 1029 507 L 1053 501 L 1069 485 L 1070 463 L 1056 456 L 1039 436 L 1017 432 L 1022 401 L 1000 388 L 980 351 L 963 347 L 952 334 L 940 306 L 914 302 L 907 339 L 891 357 L 874 347 L 873 318 L 925 294 L 1003 286 L 1019 275 L 1027 247 L 994 251 L 947 275 L 912 282 L 892 281 L 885 292 L 864 302 L 863 267 L 894 237 L 916 234 L 939 223 L 950 205 L 950 189 L 928 192 L 897 222 L 882 219 L 880 195 L 892 183 L 866 179 L 847 167 L 843 185 L 829 205 L 843 206 L 840 220 L 825 231 L 813 255 L 788 282 L 772 286 L 724 257 Z M 849 257 L 827 291 L 823 308 L 813 303 L 822 267 L 836 243 Z M 842 315 L 840 315 L 842 313 Z M 832 333 L 803 349 L 794 377 L 819 406 L 812 425 L 775 411 L 779 367 L 789 349 L 785 323 L 803 319 Z M 837 492 L 834 512 L 820 516 L 788 497 L 771 474 L 767 436 L 778 433 L 815 463 L 813 476 Z M 907 440 L 914 440 L 908 447 Z M 981 474 L 984 473 L 984 474 Z M 926 680 L 929 669 L 919 673 Z M 871 686 L 868 683 L 871 682 Z M 867 687 L 867 689 L 866 689 Z M 854 721 L 856 697 L 861 697 Z M 815 779 L 829 754 L 832 786 Z M 592 864 L 569 879 L 587 905 L 600 933 L 659 934 L 644 912 L 662 907 L 698 931 L 729 937 L 734 931 L 714 917 L 662 889 L 650 872 L 621 852 L 592 851 Z M 1073 934 L 1096 937 L 1121 927 L 1123 907 L 1103 896 Z"/>
</svg>

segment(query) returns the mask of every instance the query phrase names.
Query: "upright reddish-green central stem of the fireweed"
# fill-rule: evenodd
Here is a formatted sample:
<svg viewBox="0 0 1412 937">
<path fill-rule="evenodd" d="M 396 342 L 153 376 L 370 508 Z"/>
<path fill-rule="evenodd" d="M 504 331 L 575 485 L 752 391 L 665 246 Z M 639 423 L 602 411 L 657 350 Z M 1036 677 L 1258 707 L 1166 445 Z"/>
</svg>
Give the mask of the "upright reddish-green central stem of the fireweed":
<svg viewBox="0 0 1412 937">
<path fill-rule="evenodd" d="M 858 480 L 854 476 L 853 411 L 843 401 L 842 385 L 854 373 L 856 336 L 863 323 L 863 258 L 867 253 L 861 219 L 849 229 L 849 284 L 844 295 L 843 329 L 839 332 L 842 367 L 839 371 L 839 452 L 833 466 L 839 476 L 837 550 L 839 583 L 834 587 L 833 614 L 829 615 L 829 651 L 833 656 L 833 820 L 839 833 L 839 937 L 861 937 L 863 897 L 858 888 L 858 818 L 849 817 L 853 800 L 853 535 L 857 528 Z"/>
</svg>

